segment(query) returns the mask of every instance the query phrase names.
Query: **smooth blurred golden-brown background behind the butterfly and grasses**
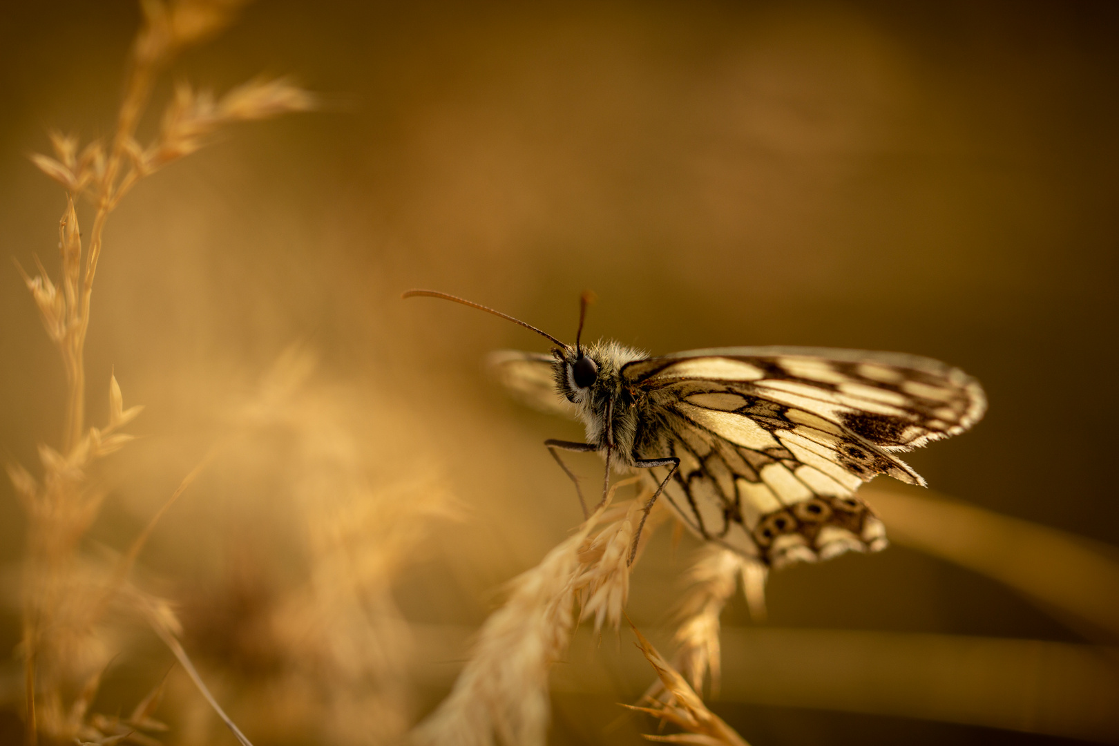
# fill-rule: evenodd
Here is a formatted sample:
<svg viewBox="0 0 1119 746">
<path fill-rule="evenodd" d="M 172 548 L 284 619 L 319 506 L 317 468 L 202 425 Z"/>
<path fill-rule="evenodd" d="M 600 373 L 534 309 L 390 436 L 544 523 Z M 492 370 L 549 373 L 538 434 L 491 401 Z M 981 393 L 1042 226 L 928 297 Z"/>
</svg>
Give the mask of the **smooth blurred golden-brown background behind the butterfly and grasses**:
<svg viewBox="0 0 1119 746">
<path fill-rule="evenodd" d="M 138 20 L 125 0 L 0 9 L 0 246 L 23 266 L 37 255 L 56 272 L 63 206 L 26 157 L 48 148 L 48 126 L 111 131 Z M 434 707 L 501 584 L 577 522 L 540 442 L 581 436 L 481 370 L 489 350 L 544 340 L 398 300 L 434 287 L 565 339 L 593 289 L 589 334 L 652 352 L 812 344 L 958 365 L 984 383 L 989 414 L 910 462 L 942 493 L 1119 556 L 1117 32 L 1106 1 L 250 6 L 170 79 L 220 91 L 292 74 L 325 106 L 220 138 L 113 216 L 87 343 L 92 418 L 111 369 L 125 405 L 148 409 L 133 427 L 144 437 L 100 476 L 110 492 L 91 551 L 128 545 L 278 359 L 313 357 L 300 434 L 238 436 L 160 523 L 143 577 L 180 604 L 188 651 L 251 736 L 312 743 L 303 721 L 269 731 L 254 715 L 270 711 L 266 686 L 245 693 L 282 658 L 254 625 L 313 555 L 299 470 L 340 450 L 385 490 L 430 480 L 459 517 L 431 519 L 392 593 L 416 650 L 402 712 Z M 0 448 L 31 464 L 37 443 L 59 438 L 64 377 L 13 267 L 0 270 Z M 8 566 L 21 526 L 4 483 Z M 653 632 L 696 546 L 668 533 L 633 578 L 630 615 Z M 837 631 L 825 650 L 850 642 L 840 633 L 881 633 L 868 654 L 900 634 L 1116 642 L 903 546 L 777 573 L 769 612 L 777 631 Z M 741 601 L 724 624 L 728 639 L 753 629 Z M 653 728 L 614 705 L 651 680 L 628 635 L 587 638 L 560 665 L 553 743 L 639 743 Z M 8 606 L 6 657 L 18 640 Z M 1119 718 L 1054 734 L 1028 712 L 996 729 L 897 705 L 767 699 L 764 680 L 734 684 L 758 674 L 735 650 L 713 707 L 754 744 L 1119 740 Z M 805 657 L 796 664 L 811 669 Z M 131 707 L 171 663 L 140 635 L 115 665 L 105 711 Z M 3 670 L 0 734 L 16 739 L 17 660 Z M 204 718 L 166 717 L 181 726 L 169 743 Z"/>
</svg>

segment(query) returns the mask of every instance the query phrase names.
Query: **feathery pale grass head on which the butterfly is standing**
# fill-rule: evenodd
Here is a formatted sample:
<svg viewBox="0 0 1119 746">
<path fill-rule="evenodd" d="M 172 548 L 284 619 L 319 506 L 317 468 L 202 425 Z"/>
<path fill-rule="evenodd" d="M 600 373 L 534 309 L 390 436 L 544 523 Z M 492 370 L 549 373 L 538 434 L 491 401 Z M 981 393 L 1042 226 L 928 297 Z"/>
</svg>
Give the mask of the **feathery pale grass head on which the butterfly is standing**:
<svg viewBox="0 0 1119 746">
<path fill-rule="evenodd" d="M 611 510 L 614 484 L 570 538 L 510 583 L 509 598 L 482 625 L 454 688 L 413 742 L 438 746 L 543 746 L 551 719 L 548 671 L 576 621 L 618 624 L 629 597 L 630 544 L 645 504 L 639 495 Z M 612 518 L 610 522 L 604 522 Z M 647 526 L 642 536 L 651 533 Z M 576 601 L 582 612 L 575 616 Z"/>
</svg>

